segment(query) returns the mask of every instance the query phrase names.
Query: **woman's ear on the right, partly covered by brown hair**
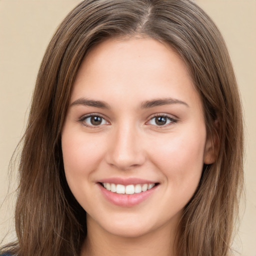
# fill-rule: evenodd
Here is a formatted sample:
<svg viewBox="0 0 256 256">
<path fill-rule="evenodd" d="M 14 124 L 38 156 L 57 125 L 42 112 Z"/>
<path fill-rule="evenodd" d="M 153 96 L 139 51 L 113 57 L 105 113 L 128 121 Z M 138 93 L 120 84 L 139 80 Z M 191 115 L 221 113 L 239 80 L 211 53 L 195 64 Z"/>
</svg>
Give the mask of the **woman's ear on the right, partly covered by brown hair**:
<svg viewBox="0 0 256 256">
<path fill-rule="evenodd" d="M 219 131 L 219 122 L 217 119 L 214 121 L 214 125 L 215 130 L 213 131 L 212 137 L 208 135 L 205 142 L 203 156 L 203 162 L 205 164 L 211 164 L 215 162 L 219 151 L 219 137 L 217 135 Z"/>
</svg>

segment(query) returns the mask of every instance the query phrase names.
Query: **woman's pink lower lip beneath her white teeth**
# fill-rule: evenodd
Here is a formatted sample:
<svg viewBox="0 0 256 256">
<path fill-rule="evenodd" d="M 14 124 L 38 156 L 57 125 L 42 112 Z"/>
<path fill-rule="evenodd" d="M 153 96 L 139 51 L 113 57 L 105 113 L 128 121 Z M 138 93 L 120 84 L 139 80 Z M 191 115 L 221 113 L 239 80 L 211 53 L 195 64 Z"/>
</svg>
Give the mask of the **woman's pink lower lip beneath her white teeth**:
<svg viewBox="0 0 256 256">
<path fill-rule="evenodd" d="M 117 194 L 105 189 L 101 184 L 98 184 L 103 196 L 111 203 L 123 206 L 131 207 L 137 205 L 144 200 L 146 200 L 156 189 L 157 186 L 152 187 L 144 192 L 134 193 L 134 194 Z"/>
</svg>

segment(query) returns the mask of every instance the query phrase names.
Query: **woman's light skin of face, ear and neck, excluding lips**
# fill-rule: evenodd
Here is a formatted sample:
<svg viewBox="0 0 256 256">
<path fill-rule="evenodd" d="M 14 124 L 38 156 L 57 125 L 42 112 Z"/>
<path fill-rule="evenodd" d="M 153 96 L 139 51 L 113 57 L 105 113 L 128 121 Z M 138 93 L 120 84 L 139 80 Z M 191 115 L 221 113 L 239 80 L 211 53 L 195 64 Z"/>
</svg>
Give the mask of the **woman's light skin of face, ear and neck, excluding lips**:
<svg viewBox="0 0 256 256">
<path fill-rule="evenodd" d="M 93 126 L 89 114 L 102 122 Z M 157 125 L 156 115 L 167 115 L 166 124 Z M 200 97 L 174 50 L 143 37 L 95 46 L 78 70 L 61 137 L 68 185 L 87 212 L 81 255 L 174 255 L 182 210 L 203 163 L 214 160 L 210 141 Z M 141 203 L 124 207 L 99 188 L 98 180 L 112 177 L 158 185 Z"/>
</svg>

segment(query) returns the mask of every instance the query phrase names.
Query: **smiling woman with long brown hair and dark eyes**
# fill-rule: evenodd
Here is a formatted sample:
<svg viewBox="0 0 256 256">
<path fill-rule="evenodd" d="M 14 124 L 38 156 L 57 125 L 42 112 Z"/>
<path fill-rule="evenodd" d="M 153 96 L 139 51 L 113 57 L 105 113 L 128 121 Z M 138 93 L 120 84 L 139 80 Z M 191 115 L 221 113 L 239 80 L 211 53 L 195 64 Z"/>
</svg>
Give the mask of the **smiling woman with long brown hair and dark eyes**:
<svg viewBox="0 0 256 256">
<path fill-rule="evenodd" d="M 17 255 L 229 255 L 239 93 L 189 0 L 85 0 L 38 72 L 20 159 Z"/>
</svg>

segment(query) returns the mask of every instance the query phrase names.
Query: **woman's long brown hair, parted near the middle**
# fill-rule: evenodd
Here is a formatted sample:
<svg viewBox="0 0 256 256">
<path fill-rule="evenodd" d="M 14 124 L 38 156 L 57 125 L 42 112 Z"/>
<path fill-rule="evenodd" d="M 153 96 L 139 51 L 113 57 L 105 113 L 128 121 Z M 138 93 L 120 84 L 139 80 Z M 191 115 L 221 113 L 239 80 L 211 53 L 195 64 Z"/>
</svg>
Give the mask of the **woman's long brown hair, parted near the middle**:
<svg viewBox="0 0 256 256">
<path fill-rule="evenodd" d="M 243 182 L 240 97 L 230 58 L 213 21 L 190 0 L 84 0 L 53 35 L 38 72 L 19 165 L 15 208 L 19 256 L 78 255 L 85 211 L 65 180 L 61 128 L 77 69 L 93 45 L 144 35 L 183 58 L 203 106 L 216 161 L 205 165 L 177 237 L 182 256 L 230 254 Z"/>
</svg>

